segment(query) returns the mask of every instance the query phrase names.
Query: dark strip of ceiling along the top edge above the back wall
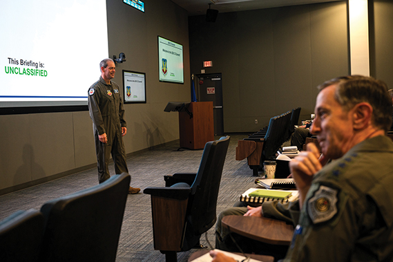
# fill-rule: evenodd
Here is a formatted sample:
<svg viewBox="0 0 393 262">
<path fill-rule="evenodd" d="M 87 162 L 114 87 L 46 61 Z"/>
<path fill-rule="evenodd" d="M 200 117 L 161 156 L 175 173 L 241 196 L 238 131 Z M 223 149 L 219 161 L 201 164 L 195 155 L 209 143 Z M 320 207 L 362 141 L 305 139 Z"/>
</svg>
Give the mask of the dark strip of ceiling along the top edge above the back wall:
<svg viewBox="0 0 393 262">
<path fill-rule="evenodd" d="M 218 12 L 237 12 L 245 10 L 255 10 L 262 8 L 276 8 L 279 6 L 296 6 L 307 3 L 324 3 L 344 0 L 171 0 L 178 4 L 187 12 L 189 16 L 205 15 L 206 10 L 218 10 Z"/>
</svg>

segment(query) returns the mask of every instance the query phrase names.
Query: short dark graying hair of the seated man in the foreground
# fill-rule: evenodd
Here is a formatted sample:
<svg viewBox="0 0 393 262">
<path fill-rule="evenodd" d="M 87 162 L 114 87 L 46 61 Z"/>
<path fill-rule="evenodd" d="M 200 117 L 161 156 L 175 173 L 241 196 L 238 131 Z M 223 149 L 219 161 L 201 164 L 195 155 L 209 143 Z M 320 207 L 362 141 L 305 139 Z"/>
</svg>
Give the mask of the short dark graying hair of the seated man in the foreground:
<svg viewBox="0 0 393 262">
<path fill-rule="evenodd" d="M 375 127 L 385 131 L 390 130 L 392 125 L 392 98 L 387 92 L 387 85 L 381 80 L 363 75 L 347 75 L 330 79 L 320 84 L 321 91 L 327 86 L 337 85 L 334 99 L 345 111 L 353 109 L 361 102 L 367 102 L 372 106 L 372 123 Z"/>
</svg>

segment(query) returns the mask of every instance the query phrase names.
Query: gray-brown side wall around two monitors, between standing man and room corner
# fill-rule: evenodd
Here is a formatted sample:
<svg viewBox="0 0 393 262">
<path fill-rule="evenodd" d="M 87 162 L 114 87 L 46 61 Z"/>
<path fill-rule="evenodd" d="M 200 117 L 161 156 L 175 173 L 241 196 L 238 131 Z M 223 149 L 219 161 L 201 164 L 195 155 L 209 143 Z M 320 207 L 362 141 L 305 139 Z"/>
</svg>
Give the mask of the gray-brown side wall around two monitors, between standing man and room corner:
<svg viewBox="0 0 393 262">
<path fill-rule="evenodd" d="M 107 3 L 110 53 L 124 52 L 127 57 L 127 62 L 117 64 L 117 83 L 122 85 L 119 68 L 146 73 L 147 103 L 125 105 L 128 134 L 124 141 L 127 153 L 178 139 L 178 127 L 174 134 L 167 131 L 168 124 L 164 120 L 168 118 L 168 113 L 164 113 L 164 107 L 170 101 L 191 100 L 186 11 L 171 1 L 155 0 L 153 3 L 145 13 L 135 12 L 122 2 Z M 122 23 L 118 22 L 119 15 L 124 16 Z M 157 36 L 183 45 L 184 84 L 158 81 Z"/>
</svg>

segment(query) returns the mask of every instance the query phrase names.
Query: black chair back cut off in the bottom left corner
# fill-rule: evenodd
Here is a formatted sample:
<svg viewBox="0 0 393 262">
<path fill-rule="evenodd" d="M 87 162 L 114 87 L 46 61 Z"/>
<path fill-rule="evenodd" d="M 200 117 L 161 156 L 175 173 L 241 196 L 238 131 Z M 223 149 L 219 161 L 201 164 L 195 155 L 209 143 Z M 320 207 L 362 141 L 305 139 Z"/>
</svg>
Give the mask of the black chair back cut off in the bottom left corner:
<svg viewBox="0 0 393 262">
<path fill-rule="evenodd" d="M 0 222 L 0 261 L 36 262 L 44 216 L 35 209 L 18 211 Z"/>
</svg>

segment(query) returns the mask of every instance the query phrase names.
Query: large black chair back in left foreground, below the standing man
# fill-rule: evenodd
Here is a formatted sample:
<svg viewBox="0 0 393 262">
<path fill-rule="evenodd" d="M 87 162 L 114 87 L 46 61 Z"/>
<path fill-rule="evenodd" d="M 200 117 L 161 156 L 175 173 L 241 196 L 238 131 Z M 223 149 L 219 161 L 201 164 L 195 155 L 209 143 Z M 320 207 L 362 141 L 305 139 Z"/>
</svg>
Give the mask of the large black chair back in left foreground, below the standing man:
<svg viewBox="0 0 393 262">
<path fill-rule="evenodd" d="M 130 180 L 115 175 L 44 204 L 40 261 L 115 261 Z"/>
</svg>

